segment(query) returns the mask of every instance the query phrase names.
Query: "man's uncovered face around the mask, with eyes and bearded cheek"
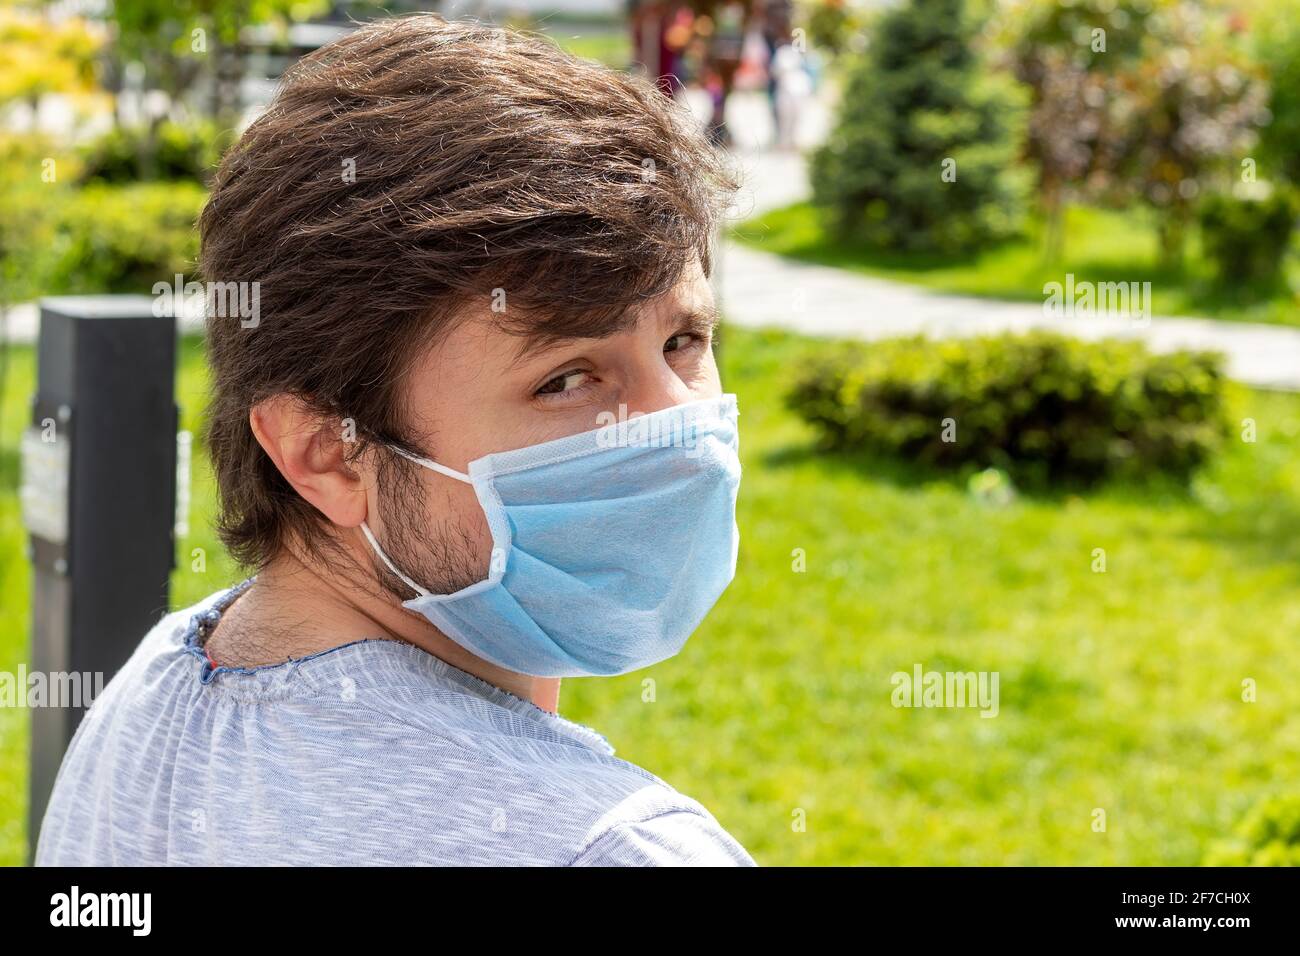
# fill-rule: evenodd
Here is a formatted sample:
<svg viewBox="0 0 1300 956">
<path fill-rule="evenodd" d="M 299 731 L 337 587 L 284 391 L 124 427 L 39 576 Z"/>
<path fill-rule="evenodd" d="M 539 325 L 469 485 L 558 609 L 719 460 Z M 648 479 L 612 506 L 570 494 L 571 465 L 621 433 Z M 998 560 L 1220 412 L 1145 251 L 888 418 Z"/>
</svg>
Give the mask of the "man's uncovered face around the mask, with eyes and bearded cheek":
<svg viewBox="0 0 1300 956">
<path fill-rule="evenodd" d="M 476 458 L 592 431 L 620 406 L 627 415 L 649 414 L 722 394 L 712 290 L 698 263 L 642 307 L 636 325 L 604 338 L 529 347 L 499 328 L 486 303 L 478 308 L 416 363 L 408 384 L 412 433 L 448 468 L 467 472 Z M 473 488 L 411 467 L 413 485 L 370 492 L 370 524 L 385 549 L 434 593 L 482 580 L 491 532 Z"/>
</svg>

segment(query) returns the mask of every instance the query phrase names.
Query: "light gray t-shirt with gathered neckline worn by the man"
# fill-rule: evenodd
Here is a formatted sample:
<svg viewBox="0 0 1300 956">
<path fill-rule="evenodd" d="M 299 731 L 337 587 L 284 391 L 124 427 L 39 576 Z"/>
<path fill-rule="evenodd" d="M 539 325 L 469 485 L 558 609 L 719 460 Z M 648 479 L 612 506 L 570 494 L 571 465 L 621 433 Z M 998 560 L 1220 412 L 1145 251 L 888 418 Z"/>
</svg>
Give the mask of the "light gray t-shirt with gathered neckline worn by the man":
<svg viewBox="0 0 1300 956">
<path fill-rule="evenodd" d="M 755 865 L 590 727 L 413 645 L 213 669 L 203 628 L 248 584 L 165 617 L 94 701 L 36 865 Z"/>
</svg>

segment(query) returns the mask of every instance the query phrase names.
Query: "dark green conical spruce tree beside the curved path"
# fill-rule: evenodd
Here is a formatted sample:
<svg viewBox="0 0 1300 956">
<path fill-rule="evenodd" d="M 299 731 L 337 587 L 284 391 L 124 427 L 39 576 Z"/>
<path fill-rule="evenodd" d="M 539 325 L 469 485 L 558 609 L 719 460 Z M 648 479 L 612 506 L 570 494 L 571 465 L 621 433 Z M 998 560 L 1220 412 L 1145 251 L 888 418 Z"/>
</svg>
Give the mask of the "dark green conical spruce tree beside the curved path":
<svg viewBox="0 0 1300 956">
<path fill-rule="evenodd" d="M 965 0 L 906 0 L 849 66 L 812 156 L 814 202 L 841 238 L 959 252 L 1019 228 L 1023 98 L 976 56 Z"/>
</svg>

